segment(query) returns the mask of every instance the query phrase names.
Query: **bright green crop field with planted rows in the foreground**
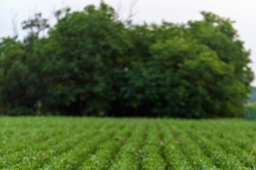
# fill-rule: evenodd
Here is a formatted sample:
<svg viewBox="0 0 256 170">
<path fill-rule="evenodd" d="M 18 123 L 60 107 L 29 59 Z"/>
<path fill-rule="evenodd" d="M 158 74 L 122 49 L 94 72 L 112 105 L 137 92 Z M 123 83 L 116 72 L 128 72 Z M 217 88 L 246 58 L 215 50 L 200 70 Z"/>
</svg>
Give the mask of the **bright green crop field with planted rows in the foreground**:
<svg viewBox="0 0 256 170">
<path fill-rule="evenodd" d="M 253 169 L 255 131 L 240 119 L 1 117 L 0 169 Z"/>
</svg>

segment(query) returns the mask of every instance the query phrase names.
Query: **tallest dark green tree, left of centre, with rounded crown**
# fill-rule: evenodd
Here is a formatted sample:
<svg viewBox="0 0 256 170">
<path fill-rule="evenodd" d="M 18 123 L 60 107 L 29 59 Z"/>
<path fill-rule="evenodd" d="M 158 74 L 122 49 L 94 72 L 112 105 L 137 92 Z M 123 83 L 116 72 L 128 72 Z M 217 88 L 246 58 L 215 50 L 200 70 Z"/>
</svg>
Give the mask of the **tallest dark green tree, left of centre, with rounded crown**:
<svg viewBox="0 0 256 170">
<path fill-rule="evenodd" d="M 120 101 L 131 43 L 114 15 L 114 9 L 101 3 L 98 9 L 89 5 L 59 18 L 39 54 L 49 58 L 43 73 L 52 80 L 47 89 L 51 106 L 103 115 L 112 101 Z"/>
</svg>

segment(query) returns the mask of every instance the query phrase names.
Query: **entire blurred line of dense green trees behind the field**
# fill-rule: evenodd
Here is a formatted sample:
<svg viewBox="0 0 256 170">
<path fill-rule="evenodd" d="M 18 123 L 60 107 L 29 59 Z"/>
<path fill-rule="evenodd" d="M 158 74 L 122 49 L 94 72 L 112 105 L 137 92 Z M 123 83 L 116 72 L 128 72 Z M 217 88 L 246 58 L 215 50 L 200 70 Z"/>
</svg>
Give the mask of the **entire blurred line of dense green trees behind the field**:
<svg viewBox="0 0 256 170">
<path fill-rule="evenodd" d="M 138 25 L 102 2 L 57 10 L 52 27 L 35 14 L 23 41 L 0 41 L 0 114 L 237 116 L 254 78 L 250 52 L 233 21 L 201 14 Z"/>
</svg>

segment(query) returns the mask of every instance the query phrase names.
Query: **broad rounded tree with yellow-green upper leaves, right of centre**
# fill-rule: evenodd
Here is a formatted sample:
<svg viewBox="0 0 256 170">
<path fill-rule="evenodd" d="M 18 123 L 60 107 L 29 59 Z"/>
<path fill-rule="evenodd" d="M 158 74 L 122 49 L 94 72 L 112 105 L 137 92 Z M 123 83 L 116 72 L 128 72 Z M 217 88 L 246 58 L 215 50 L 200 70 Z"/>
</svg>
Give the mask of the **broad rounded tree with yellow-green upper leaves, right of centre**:
<svg viewBox="0 0 256 170">
<path fill-rule="evenodd" d="M 235 80 L 234 67 L 207 46 L 175 38 L 154 44 L 150 52 L 152 60 L 133 63 L 127 73 L 125 97 L 133 98 L 132 107 L 152 103 L 155 115 L 188 118 L 239 111 L 244 85 Z"/>
</svg>

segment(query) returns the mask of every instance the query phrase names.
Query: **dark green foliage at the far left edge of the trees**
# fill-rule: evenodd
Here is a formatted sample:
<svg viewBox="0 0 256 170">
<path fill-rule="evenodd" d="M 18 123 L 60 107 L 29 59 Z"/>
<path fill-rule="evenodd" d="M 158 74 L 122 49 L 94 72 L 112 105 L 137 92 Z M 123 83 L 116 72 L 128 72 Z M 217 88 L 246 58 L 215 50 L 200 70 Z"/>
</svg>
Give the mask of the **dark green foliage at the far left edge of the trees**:
<svg viewBox="0 0 256 170">
<path fill-rule="evenodd" d="M 37 75 L 30 71 L 22 44 L 16 39 L 0 43 L 0 103 L 10 110 L 9 115 L 34 115 L 33 104 Z M 20 110 L 19 110 L 20 109 Z M 17 112 L 14 113 L 16 110 Z"/>
</svg>

